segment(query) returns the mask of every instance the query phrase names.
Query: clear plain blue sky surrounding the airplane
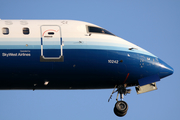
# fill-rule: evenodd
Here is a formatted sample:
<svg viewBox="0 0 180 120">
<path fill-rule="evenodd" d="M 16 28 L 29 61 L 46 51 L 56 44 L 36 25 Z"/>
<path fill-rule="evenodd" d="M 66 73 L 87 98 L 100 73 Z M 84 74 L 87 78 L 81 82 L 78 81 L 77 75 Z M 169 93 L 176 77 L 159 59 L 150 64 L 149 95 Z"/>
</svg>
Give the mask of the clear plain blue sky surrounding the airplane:
<svg viewBox="0 0 180 120">
<path fill-rule="evenodd" d="M 174 68 L 158 90 L 125 97 L 128 113 L 113 113 L 108 90 L 0 91 L 0 120 L 179 120 L 179 0 L 4 0 L 0 19 L 72 19 L 97 24 L 155 54 Z"/>
</svg>

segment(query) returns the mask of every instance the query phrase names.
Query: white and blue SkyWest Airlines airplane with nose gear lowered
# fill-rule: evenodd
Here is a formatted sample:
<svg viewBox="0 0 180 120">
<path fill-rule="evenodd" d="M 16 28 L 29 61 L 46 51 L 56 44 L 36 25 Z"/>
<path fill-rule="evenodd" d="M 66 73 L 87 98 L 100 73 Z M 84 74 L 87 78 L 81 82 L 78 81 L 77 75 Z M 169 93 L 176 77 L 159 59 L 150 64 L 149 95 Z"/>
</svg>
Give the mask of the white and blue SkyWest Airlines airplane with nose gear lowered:
<svg viewBox="0 0 180 120">
<path fill-rule="evenodd" d="M 0 90 L 114 88 L 114 113 L 123 117 L 128 87 L 137 94 L 153 91 L 173 72 L 157 56 L 95 24 L 0 20 Z"/>
</svg>

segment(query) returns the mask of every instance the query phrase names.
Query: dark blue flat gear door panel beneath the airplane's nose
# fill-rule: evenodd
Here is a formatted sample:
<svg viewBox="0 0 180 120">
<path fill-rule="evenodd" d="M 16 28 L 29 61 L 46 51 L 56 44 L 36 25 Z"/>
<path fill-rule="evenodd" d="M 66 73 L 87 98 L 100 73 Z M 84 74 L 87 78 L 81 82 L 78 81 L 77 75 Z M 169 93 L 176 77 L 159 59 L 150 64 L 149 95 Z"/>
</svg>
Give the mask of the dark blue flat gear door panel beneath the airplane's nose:
<svg viewBox="0 0 180 120">
<path fill-rule="evenodd" d="M 160 78 L 158 75 L 152 75 L 152 76 L 141 78 L 138 80 L 140 86 L 158 82 L 158 81 L 160 81 Z"/>
</svg>

